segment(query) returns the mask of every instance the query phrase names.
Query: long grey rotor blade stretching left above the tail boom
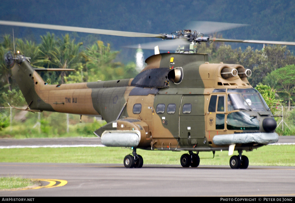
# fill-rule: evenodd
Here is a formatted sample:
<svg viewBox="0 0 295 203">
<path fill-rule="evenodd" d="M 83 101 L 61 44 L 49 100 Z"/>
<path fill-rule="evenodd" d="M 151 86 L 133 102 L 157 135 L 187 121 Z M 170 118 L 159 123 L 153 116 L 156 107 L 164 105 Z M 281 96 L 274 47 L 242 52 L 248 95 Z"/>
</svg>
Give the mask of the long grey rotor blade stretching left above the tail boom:
<svg viewBox="0 0 295 203">
<path fill-rule="evenodd" d="M 125 32 L 125 31 L 116 31 L 116 30 L 101 30 L 101 29 L 94 29 L 94 28 L 71 27 L 71 26 L 63 26 L 63 25 L 50 25 L 50 24 L 15 22 L 15 21 L 4 21 L 4 20 L 0 20 L 0 25 L 33 27 L 33 28 L 63 30 L 63 31 L 71 31 L 71 32 L 85 32 L 85 33 L 92 33 L 92 34 L 114 35 L 114 36 L 122 36 L 122 37 L 157 37 L 162 39 L 165 38 L 163 35 L 158 35 L 158 34 Z"/>
</svg>

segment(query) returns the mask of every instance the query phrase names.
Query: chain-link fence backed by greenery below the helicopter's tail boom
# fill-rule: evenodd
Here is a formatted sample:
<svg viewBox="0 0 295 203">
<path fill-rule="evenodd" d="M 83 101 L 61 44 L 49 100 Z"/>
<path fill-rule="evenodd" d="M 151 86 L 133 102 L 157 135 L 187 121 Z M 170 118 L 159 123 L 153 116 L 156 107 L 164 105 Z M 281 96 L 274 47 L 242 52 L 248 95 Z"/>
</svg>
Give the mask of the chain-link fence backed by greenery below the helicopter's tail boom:
<svg viewBox="0 0 295 203">
<path fill-rule="evenodd" d="M 26 107 L 20 107 L 22 109 Z M 1 118 L 8 122 L 8 127 L 0 128 L 0 137 L 15 137 L 23 135 L 26 137 L 63 135 L 74 133 L 80 135 L 93 135 L 93 131 L 105 125 L 101 117 L 82 116 L 58 112 L 28 112 L 13 107 L 0 107 Z M 7 125 L 6 125 L 7 126 Z M 34 135 L 33 135 L 34 134 Z"/>
</svg>

